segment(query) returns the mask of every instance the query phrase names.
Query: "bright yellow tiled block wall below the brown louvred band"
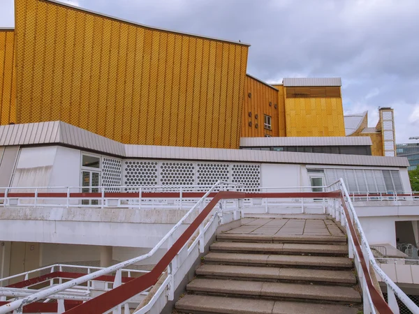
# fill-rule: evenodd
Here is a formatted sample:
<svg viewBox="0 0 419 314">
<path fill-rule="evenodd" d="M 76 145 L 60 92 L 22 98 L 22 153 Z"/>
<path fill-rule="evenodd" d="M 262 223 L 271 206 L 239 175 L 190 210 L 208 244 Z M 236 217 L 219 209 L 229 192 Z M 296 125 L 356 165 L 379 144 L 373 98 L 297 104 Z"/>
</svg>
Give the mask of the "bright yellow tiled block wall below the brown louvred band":
<svg viewBox="0 0 419 314">
<path fill-rule="evenodd" d="M 345 136 L 340 97 L 287 98 L 286 91 L 286 136 Z"/>
</svg>

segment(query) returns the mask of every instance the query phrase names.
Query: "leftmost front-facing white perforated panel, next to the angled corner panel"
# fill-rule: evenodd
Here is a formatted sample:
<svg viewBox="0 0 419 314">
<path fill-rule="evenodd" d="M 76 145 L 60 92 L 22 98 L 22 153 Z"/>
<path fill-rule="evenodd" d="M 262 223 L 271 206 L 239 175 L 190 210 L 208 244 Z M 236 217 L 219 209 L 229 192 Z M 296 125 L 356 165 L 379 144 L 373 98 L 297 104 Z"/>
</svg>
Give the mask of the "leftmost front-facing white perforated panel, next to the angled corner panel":
<svg viewBox="0 0 419 314">
<path fill-rule="evenodd" d="M 157 161 L 124 160 L 124 186 L 155 186 Z"/>
</svg>

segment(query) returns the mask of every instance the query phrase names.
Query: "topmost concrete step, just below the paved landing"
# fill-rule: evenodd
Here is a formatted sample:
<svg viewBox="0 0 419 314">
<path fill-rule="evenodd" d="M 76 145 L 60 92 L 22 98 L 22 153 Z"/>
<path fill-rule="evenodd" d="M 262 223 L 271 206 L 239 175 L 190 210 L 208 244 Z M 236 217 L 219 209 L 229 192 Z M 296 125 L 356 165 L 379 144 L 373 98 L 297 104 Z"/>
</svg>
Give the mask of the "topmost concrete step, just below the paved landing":
<svg viewBox="0 0 419 314">
<path fill-rule="evenodd" d="M 345 236 L 323 235 L 267 235 L 267 234 L 241 234 L 221 233 L 216 236 L 217 241 L 230 242 L 258 242 L 258 243 L 302 243 L 302 244 L 330 244 L 346 245 Z"/>
</svg>

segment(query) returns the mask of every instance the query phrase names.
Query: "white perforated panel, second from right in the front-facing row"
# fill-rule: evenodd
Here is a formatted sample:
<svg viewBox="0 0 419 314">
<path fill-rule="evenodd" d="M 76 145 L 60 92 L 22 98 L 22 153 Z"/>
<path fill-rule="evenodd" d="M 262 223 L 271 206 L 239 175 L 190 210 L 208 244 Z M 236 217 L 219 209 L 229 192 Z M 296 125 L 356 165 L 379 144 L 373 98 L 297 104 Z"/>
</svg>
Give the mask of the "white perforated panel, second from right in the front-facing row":
<svg viewBox="0 0 419 314">
<path fill-rule="evenodd" d="M 230 165 L 227 163 L 198 163 L 196 165 L 198 186 L 212 186 L 219 180 L 230 180 Z"/>
</svg>

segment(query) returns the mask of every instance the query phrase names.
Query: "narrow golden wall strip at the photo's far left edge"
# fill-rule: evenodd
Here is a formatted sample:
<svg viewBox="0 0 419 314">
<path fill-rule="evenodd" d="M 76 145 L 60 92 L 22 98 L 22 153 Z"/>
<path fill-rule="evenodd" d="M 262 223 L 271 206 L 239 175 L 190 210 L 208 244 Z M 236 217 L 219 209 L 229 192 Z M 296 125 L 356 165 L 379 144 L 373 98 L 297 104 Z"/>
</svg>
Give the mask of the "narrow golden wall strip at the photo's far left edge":
<svg viewBox="0 0 419 314">
<path fill-rule="evenodd" d="M 0 29 L 0 124 L 16 123 L 15 31 Z"/>
</svg>

